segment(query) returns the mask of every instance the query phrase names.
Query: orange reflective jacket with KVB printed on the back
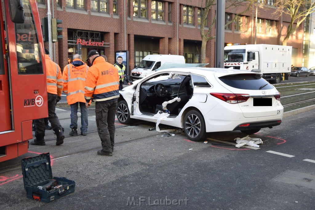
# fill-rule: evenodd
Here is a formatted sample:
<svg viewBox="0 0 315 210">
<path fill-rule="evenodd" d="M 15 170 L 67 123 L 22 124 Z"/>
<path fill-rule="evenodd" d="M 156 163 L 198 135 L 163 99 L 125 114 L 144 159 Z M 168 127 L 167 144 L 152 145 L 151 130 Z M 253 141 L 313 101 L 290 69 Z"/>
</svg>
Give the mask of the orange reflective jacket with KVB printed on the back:
<svg viewBox="0 0 315 210">
<path fill-rule="evenodd" d="M 97 56 L 92 61 L 85 81 L 85 100 L 110 102 L 119 98 L 119 78 L 115 66 Z"/>
</svg>

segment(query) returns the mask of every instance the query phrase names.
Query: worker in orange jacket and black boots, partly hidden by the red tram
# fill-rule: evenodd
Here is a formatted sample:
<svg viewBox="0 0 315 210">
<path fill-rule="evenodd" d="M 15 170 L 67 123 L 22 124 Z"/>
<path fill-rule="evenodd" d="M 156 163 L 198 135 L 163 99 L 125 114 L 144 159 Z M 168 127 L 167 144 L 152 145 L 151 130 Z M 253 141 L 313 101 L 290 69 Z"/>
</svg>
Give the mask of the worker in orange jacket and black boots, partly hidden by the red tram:
<svg viewBox="0 0 315 210">
<path fill-rule="evenodd" d="M 63 80 L 61 76 L 61 70 L 58 64 L 50 60 L 49 51 L 45 49 L 45 66 L 47 77 L 47 99 L 48 99 L 48 120 L 53 128 L 57 141 L 56 145 L 63 144 L 65 138 L 63 134 L 63 128 L 60 125 L 58 116 L 55 113 L 57 101 L 61 99 L 61 92 L 63 86 Z M 31 145 L 46 145 L 45 136 L 45 123 L 44 118 L 34 120 L 36 131 L 36 139 L 32 141 Z"/>
</svg>

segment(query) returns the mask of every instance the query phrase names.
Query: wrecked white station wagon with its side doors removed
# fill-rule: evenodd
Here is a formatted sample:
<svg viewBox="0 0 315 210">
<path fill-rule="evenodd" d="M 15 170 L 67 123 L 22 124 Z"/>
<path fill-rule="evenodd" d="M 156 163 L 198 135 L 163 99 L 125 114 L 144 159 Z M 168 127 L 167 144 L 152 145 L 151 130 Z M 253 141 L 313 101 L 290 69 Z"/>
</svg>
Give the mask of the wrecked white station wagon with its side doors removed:
<svg viewBox="0 0 315 210">
<path fill-rule="evenodd" d="M 119 91 L 117 118 L 122 124 L 140 119 L 183 128 L 193 141 L 208 132 L 256 133 L 283 118 L 280 93 L 261 76 L 222 68 L 155 71 Z"/>
</svg>

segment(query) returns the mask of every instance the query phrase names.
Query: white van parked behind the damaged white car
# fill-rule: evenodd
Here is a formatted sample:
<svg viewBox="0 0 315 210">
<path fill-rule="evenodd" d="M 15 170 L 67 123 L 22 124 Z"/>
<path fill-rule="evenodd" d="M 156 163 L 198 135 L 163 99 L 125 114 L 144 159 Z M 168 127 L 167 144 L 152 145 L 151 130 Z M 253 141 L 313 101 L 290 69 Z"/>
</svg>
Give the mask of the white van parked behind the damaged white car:
<svg viewBox="0 0 315 210">
<path fill-rule="evenodd" d="M 137 67 L 131 70 L 130 79 L 137 80 L 146 77 L 165 62 L 185 63 L 185 58 L 182 55 L 147 55 L 141 60 Z"/>
</svg>

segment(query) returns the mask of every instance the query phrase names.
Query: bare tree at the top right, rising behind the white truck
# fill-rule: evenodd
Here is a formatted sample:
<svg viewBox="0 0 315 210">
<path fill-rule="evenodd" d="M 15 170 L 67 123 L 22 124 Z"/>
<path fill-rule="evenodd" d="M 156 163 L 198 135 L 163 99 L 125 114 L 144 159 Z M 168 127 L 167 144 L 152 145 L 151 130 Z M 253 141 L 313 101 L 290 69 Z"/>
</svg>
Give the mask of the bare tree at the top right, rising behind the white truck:
<svg viewBox="0 0 315 210">
<path fill-rule="evenodd" d="M 282 45 L 287 45 L 288 39 L 294 31 L 301 25 L 309 15 L 314 12 L 315 2 L 313 0 L 278 0 L 275 14 L 287 14 L 291 17 L 288 29 L 282 41 Z"/>
</svg>

